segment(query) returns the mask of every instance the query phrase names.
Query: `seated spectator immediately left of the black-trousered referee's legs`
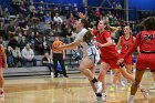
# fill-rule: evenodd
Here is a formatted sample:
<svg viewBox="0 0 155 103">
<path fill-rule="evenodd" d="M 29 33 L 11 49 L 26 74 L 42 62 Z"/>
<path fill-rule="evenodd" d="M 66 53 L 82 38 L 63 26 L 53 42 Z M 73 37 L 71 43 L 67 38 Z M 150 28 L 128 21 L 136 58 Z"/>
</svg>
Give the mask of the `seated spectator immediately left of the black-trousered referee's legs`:
<svg viewBox="0 0 155 103">
<path fill-rule="evenodd" d="M 44 66 L 48 66 L 49 68 L 50 74 L 51 74 L 51 72 L 53 72 L 53 66 L 54 65 L 53 65 L 53 61 L 52 61 L 51 56 L 49 55 L 49 53 L 44 53 L 44 56 L 42 59 L 42 64 Z"/>
</svg>

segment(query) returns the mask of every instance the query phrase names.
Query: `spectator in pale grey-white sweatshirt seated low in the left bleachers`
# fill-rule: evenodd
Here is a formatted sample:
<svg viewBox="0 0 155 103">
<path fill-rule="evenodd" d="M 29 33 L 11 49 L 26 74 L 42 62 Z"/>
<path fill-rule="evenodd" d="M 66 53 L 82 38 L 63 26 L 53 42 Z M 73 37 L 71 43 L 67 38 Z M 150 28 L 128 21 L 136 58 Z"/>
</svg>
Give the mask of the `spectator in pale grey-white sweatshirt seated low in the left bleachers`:
<svg viewBox="0 0 155 103">
<path fill-rule="evenodd" d="M 23 60 L 24 66 L 27 65 L 27 62 L 33 62 L 33 66 L 37 66 L 34 51 L 30 48 L 30 44 L 25 45 L 25 48 L 22 50 L 21 54 L 22 54 L 22 60 Z"/>
</svg>

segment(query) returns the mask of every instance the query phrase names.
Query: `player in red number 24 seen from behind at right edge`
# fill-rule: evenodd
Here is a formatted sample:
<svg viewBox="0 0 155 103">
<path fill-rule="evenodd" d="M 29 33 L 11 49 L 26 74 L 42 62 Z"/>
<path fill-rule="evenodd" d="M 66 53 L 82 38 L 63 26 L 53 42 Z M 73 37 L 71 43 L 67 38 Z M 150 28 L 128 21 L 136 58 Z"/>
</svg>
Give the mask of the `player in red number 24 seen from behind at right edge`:
<svg viewBox="0 0 155 103">
<path fill-rule="evenodd" d="M 134 45 L 123 59 L 118 60 L 118 63 L 124 62 L 124 60 L 126 60 L 136 50 L 136 48 L 140 47 L 141 54 L 137 58 L 135 82 L 131 89 L 128 103 L 134 103 L 134 95 L 145 70 L 149 69 L 152 73 L 155 74 L 155 18 L 148 17 L 142 21 L 141 25 L 144 27 L 144 31 L 137 34 Z"/>
</svg>

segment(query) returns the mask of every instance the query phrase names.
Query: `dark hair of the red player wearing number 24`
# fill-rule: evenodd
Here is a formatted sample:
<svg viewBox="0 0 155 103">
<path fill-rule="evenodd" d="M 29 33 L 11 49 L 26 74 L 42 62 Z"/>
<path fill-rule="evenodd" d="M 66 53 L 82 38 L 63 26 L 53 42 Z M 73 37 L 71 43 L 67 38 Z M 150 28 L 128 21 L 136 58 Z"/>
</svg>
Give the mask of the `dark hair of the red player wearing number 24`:
<svg viewBox="0 0 155 103">
<path fill-rule="evenodd" d="M 155 30 L 155 17 L 148 17 L 141 22 L 145 30 Z"/>
</svg>

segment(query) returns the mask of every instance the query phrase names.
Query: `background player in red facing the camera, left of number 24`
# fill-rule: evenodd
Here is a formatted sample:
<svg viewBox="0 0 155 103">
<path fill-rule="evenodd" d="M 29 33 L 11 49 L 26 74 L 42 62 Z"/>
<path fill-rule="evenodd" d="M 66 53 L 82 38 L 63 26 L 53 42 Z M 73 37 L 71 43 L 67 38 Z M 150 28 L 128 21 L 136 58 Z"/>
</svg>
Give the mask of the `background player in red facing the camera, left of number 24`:
<svg viewBox="0 0 155 103">
<path fill-rule="evenodd" d="M 124 28 L 124 35 L 120 37 L 116 49 L 120 51 L 120 58 L 123 58 L 126 52 L 132 48 L 134 44 L 135 38 L 132 35 L 132 31 L 128 25 Z M 124 61 L 125 68 L 127 73 L 132 74 L 132 65 L 133 65 L 133 54 L 131 54 L 125 61 Z M 131 81 L 127 80 L 127 83 Z M 128 85 L 130 89 L 130 85 Z"/>
</svg>

